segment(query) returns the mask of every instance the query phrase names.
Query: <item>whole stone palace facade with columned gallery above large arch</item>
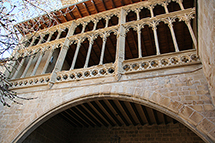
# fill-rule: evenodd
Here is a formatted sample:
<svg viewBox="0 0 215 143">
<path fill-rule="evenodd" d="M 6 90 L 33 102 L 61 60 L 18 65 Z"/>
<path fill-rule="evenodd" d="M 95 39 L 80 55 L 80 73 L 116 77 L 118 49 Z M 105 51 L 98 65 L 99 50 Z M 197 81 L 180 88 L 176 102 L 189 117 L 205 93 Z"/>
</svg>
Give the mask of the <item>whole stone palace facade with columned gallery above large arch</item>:
<svg viewBox="0 0 215 143">
<path fill-rule="evenodd" d="M 215 142 L 214 10 L 91 0 L 56 11 L 6 73 L 36 99 L 0 106 L 0 142 Z"/>
</svg>

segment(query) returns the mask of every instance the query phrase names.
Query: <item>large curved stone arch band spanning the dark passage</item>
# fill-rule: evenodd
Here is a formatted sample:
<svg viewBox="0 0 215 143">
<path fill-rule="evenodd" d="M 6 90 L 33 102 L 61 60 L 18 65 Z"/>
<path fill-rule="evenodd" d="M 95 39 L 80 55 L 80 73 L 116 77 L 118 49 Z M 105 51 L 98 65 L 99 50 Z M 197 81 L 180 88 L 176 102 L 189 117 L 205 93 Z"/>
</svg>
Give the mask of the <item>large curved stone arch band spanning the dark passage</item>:
<svg viewBox="0 0 215 143">
<path fill-rule="evenodd" d="M 43 122 L 67 108 L 102 98 L 130 101 L 151 107 L 178 120 L 196 133 L 205 142 L 215 141 L 214 137 L 210 136 L 211 129 L 215 127 L 210 120 L 201 113 L 195 111 L 193 108 L 178 101 L 174 101 L 159 92 L 146 94 L 142 89 L 132 87 L 125 89 L 114 85 L 99 85 L 88 87 L 86 90 L 76 89 L 73 92 L 71 92 L 71 90 L 66 92 L 68 93 L 62 95 L 64 97 L 62 100 L 59 100 L 62 98 L 61 96 L 59 96 L 60 98 L 55 97 L 57 98 L 55 100 L 59 100 L 58 103 L 44 105 L 48 107 L 44 107 L 46 110 L 40 112 L 40 115 L 32 115 L 31 117 L 35 118 L 31 120 L 26 119 L 25 125 L 22 126 L 23 129 L 20 129 L 18 134 L 13 134 L 14 138 L 12 142 L 22 142 Z M 36 112 L 35 114 L 39 113 Z"/>
</svg>

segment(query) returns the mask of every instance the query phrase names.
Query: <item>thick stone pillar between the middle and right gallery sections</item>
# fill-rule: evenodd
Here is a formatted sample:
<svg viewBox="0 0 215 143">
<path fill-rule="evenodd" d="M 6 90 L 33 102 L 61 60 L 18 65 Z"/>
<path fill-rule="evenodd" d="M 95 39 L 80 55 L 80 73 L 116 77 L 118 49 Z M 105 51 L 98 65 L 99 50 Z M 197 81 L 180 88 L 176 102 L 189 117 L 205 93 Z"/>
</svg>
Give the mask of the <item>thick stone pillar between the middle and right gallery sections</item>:
<svg viewBox="0 0 215 143">
<path fill-rule="evenodd" d="M 115 61 L 115 72 L 116 79 L 119 80 L 121 78 L 121 74 L 123 72 L 122 62 L 125 58 L 125 28 L 122 26 L 126 22 L 126 11 L 121 8 L 120 16 L 119 16 L 119 29 L 117 34 L 117 45 L 116 45 L 116 61 Z"/>
</svg>

